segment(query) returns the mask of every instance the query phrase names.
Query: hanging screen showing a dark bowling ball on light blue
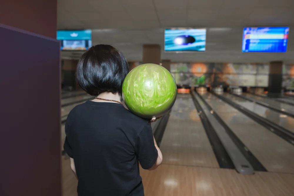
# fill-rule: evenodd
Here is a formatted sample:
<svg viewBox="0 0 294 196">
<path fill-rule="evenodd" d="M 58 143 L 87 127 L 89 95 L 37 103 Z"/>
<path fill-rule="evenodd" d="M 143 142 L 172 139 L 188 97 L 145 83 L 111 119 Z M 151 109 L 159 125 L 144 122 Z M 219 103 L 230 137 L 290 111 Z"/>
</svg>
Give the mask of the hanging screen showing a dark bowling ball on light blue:
<svg viewBox="0 0 294 196">
<path fill-rule="evenodd" d="M 166 52 L 205 51 L 206 29 L 176 28 L 164 32 Z"/>
</svg>

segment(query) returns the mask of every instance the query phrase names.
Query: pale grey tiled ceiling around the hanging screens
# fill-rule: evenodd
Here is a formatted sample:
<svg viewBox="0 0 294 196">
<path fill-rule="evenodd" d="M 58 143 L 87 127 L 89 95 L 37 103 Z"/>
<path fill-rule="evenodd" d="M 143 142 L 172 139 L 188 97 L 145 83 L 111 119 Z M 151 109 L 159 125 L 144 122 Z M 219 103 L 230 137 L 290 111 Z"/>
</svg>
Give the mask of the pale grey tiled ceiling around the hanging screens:
<svg viewBox="0 0 294 196">
<path fill-rule="evenodd" d="M 114 45 L 129 60 L 141 61 L 143 44 L 160 44 L 172 61 L 294 62 L 293 7 L 294 0 L 58 0 L 58 28 L 91 28 L 93 44 Z M 290 26 L 287 53 L 242 53 L 246 26 Z M 206 52 L 164 53 L 167 27 L 208 28 Z"/>
</svg>

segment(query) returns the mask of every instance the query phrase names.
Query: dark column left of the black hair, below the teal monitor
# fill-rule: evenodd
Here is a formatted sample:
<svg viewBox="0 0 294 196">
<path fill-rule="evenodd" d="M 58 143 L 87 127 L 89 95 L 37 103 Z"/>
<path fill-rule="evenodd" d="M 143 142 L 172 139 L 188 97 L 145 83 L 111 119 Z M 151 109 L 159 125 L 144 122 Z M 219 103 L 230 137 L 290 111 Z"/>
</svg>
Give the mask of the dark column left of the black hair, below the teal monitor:
<svg viewBox="0 0 294 196">
<path fill-rule="evenodd" d="M 76 66 L 78 65 L 77 60 L 63 60 L 62 66 L 62 78 L 63 88 L 65 90 L 75 90 L 78 88 L 76 83 Z"/>
</svg>

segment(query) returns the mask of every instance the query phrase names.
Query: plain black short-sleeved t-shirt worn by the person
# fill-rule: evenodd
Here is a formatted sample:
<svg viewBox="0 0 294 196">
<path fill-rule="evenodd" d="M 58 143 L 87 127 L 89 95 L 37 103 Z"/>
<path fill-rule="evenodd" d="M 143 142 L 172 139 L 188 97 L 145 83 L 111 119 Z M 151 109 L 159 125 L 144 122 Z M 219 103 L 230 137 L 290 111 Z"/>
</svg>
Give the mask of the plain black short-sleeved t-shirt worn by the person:
<svg viewBox="0 0 294 196">
<path fill-rule="evenodd" d="M 69 113 L 65 132 L 79 196 L 144 195 L 138 161 L 150 169 L 158 156 L 148 120 L 121 104 L 87 101 Z"/>
</svg>

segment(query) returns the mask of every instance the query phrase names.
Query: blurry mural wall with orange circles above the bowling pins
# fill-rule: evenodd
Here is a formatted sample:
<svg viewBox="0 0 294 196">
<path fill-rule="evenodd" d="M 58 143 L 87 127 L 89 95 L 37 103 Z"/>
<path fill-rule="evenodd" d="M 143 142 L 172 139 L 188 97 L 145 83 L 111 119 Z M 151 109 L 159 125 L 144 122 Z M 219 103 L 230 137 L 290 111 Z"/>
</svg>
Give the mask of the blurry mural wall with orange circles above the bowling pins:
<svg viewBox="0 0 294 196">
<path fill-rule="evenodd" d="M 267 87 L 269 65 L 256 63 L 171 63 L 179 85 Z M 283 87 L 294 87 L 294 65 L 283 66 Z"/>
</svg>

